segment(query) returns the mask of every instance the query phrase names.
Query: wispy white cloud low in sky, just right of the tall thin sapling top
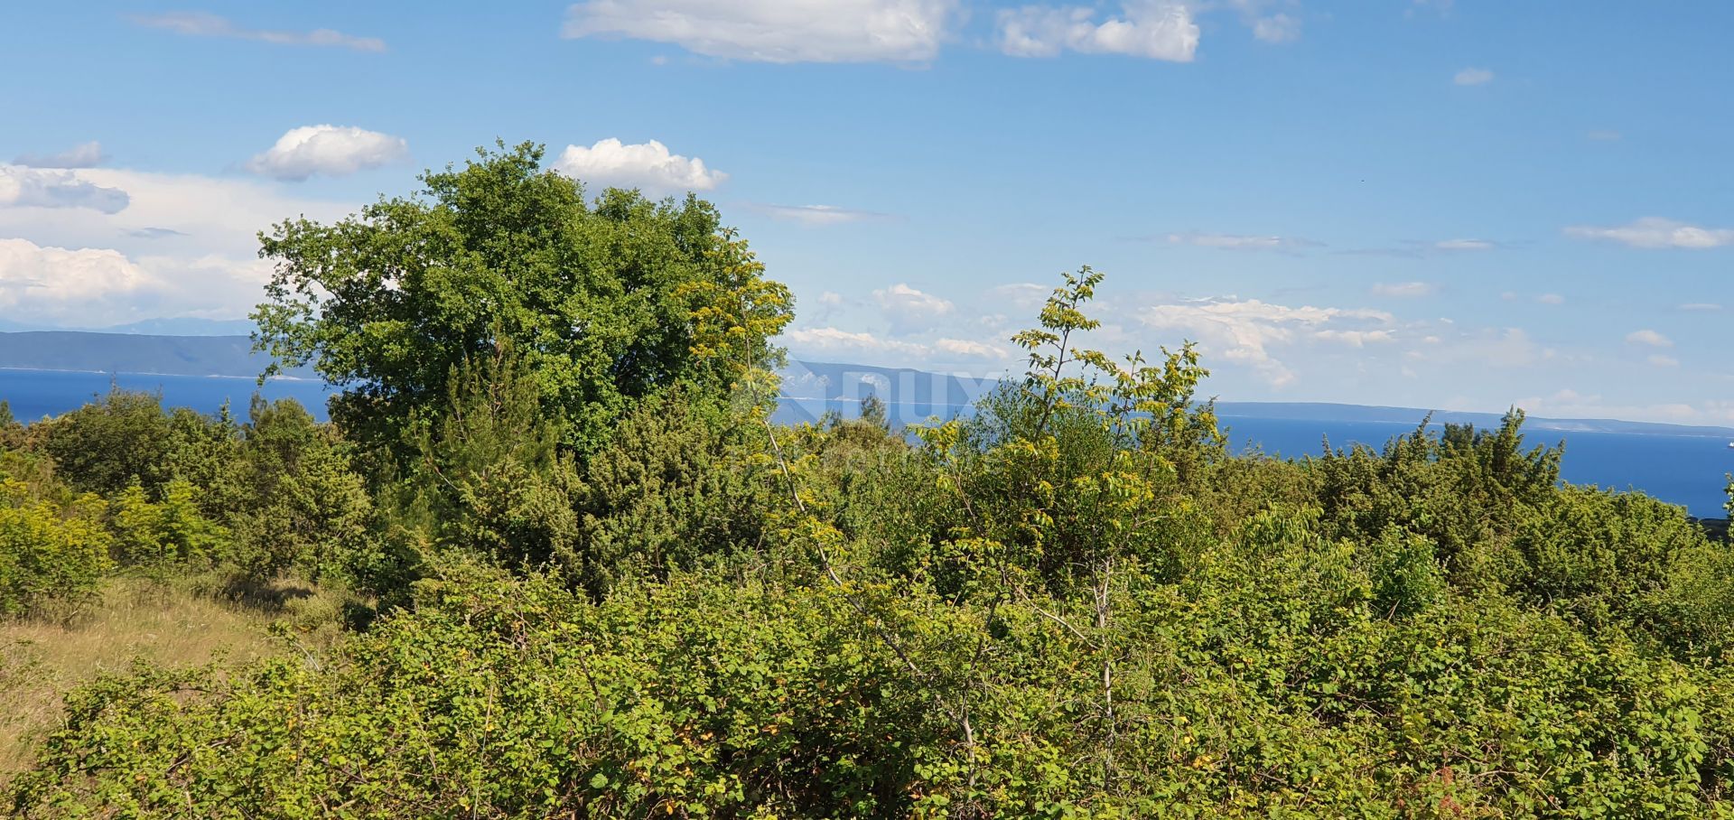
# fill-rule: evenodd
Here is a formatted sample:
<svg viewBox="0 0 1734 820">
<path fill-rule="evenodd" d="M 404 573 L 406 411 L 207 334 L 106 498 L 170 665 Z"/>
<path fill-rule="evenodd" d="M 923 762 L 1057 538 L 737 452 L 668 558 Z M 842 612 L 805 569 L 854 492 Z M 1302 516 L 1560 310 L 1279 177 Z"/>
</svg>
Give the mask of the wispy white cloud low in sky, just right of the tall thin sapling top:
<svg viewBox="0 0 1734 820">
<path fill-rule="evenodd" d="M 1292 385 L 1295 374 L 1273 355 L 1271 347 L 1295 342 L 1300 333 L 1351 345 L 1389 342 L 1389 331 L 1372 335 L 1380 328 L 1339 328 L 1333 324 L 1389 324 L 1392 321 L 1391 314 L 1382 310 L 1288 307 L 1259 300 L 1151 305 L 1138 310 L 1138 319 L 1153 329 L 1183 333 L 1198 342 L 1207 354 L 1222 361 L 1247 364 L 1278 388 Z"/>
</svg>

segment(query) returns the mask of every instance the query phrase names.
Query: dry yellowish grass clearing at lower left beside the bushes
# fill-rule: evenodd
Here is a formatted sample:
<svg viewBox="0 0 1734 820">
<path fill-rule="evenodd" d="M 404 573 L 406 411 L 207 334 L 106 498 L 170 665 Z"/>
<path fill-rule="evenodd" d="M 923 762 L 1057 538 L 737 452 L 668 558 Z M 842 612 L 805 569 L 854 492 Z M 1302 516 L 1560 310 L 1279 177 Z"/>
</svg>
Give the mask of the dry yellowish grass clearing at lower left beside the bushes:
<svg viewBox="0 0 1734 820">
<path fill-rule="evenodd" d="M 218 579 L 113 577 L 78 612 L 0 621 L 0 785 L 31 763 L 61 697 L 134 661 L 165 667 L 316 652 L 335 638 L 342 602 L 281 582 L 232 589 Z M 293 626 L 295 638 L 272 635 Z"/>
</svg>

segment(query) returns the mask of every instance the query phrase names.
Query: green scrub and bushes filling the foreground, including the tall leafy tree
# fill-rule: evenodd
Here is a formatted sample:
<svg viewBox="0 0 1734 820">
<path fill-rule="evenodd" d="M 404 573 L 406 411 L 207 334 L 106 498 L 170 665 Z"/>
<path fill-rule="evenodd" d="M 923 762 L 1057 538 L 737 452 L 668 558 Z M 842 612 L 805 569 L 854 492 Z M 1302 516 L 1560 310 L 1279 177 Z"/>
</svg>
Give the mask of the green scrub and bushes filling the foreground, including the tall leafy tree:
<svg viewBox="0 0 1734 820">
<path fill-rule="evenodd" d="M 971 418 L 775 426 L 714 208 L 539 159 L 264 236 L 329 425 L 5 426 L 0 687 L 81 680 L 14 813 L 1734 817 L 1734 548 L 1521 413 L 1231 456 L 1193 348 L 1080 347 L 1084 269 Z M 236 640 L 95 674 L 142 588 Z"/>
</svg>

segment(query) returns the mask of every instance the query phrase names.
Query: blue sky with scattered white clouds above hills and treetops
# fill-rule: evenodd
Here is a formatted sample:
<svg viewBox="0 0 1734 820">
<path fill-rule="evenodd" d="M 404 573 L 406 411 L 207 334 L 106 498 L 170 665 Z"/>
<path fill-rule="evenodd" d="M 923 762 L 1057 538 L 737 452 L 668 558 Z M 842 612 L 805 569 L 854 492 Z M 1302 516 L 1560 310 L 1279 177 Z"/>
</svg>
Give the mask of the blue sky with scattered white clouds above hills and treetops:
<svg viewBox="0 0 1734 820">
<path fill-rule="evenodd" d="M 0 319 L 232 319 L 253 234 L 496 137 L 716 201 L 798 357 L 1094 343 L 1233 400 L 1734 425 L 1734 5 L 14 3 Z"/>
</svg>

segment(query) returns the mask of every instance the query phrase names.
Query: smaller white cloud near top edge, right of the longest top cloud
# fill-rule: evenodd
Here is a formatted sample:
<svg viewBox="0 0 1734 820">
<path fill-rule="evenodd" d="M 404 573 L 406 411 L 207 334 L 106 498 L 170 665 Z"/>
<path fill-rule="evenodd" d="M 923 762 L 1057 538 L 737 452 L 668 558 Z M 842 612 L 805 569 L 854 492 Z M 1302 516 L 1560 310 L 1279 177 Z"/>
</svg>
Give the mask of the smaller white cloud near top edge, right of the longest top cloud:
<svg viewBox="0 0 1734 820">
<path fill-rule="evenodd" d="M 1198 24 L 1186 3 L 1127 0 L 1118 17 L 1096 23 L 1085 5 L 1025 5 L 999 12 L 999 47 L 1013 57 L 1124 54 L 1170 62 L 1191 62 L 1198 50 Z"/>
</svg>

